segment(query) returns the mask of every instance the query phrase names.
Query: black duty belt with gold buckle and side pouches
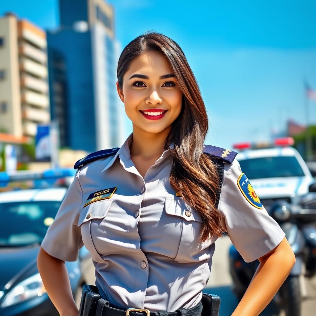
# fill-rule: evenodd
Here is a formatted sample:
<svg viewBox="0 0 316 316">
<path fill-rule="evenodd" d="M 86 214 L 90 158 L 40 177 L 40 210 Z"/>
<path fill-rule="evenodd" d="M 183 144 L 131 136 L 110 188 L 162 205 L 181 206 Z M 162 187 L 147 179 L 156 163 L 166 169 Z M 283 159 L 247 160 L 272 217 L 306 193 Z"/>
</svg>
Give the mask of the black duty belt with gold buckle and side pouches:
<svg viewBox="0 0 316 316">
<path fill-rule="evenodd" d="M 94 285 L 84 284 L 80 302 L 79 316 L 218 316 L 220 297 L 203 293 L 201 301 L 190 308 L 179 308 L 173 312 L 149 311 L 146 308 L 121 309 L 101 298 Z"/>
</svg>

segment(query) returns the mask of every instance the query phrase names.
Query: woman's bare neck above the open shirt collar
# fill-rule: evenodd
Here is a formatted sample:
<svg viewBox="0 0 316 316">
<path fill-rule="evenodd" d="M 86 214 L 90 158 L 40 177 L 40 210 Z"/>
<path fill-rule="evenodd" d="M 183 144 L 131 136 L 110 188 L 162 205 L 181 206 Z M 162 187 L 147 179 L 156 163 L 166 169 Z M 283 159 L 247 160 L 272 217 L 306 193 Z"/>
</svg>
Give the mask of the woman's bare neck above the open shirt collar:
<svg viewBox="0 0 316 316">
<path fill-rule="evenodd" d="M 149 133 L 133 124 L 133 139 L 130 146 L 131 157 L 141 156 L 144 160 L 160 157 L 165 151 L 163 145 L 170 128 L 159 133 Z"/>
</svg>

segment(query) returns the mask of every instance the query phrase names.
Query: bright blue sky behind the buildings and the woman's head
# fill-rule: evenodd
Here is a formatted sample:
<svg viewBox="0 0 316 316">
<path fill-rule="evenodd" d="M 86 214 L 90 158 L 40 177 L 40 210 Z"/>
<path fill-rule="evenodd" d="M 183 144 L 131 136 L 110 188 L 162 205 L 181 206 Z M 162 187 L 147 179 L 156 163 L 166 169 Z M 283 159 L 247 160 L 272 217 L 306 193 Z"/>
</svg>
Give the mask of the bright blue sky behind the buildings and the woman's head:
<svg viewBox="0 0 316 316">
<path fill-rule="evenodd" d="M 269 139 L 290 118 L 305 124 L 303 79 L 316 89 L 315 0 L 108 2 L 122 48 L 147 30 L 181 46 L 209 114 L 205 143 L 231 148 Z M 6 11 L 45 29 L 59 24 L 57 0 L 0 3 Z M 316 124 L 315 101 L 309 110 Z"/>
</svg>

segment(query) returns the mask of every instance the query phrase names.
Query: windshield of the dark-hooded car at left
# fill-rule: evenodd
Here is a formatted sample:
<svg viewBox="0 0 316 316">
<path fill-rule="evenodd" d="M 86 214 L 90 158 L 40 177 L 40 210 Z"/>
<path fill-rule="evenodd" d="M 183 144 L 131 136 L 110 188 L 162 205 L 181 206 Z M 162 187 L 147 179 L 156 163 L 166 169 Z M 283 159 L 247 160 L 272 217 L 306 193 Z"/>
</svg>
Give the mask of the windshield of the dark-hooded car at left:
<svg viewBox="0 0 316 316">
<path fill-rule="evenodd" d="M 41 244 L 61 202 L 0 203 L 0 247 Z"/>
</svg>

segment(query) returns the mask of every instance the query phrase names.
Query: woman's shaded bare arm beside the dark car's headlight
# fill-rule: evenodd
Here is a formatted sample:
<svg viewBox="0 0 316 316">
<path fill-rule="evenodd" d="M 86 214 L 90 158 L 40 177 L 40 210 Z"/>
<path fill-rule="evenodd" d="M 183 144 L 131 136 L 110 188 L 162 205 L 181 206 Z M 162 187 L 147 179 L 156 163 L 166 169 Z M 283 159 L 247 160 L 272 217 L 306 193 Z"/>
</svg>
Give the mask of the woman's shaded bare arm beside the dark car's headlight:
<svg viewBox="0 0 316 316">
<path fill-rule="evenodd" d="M 37 257 L 37 268 L 49 298 L 61 316 L 78 316 L 65 262 L 52 257 L 42 247 Z"/>
</svg>

